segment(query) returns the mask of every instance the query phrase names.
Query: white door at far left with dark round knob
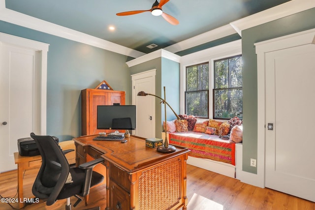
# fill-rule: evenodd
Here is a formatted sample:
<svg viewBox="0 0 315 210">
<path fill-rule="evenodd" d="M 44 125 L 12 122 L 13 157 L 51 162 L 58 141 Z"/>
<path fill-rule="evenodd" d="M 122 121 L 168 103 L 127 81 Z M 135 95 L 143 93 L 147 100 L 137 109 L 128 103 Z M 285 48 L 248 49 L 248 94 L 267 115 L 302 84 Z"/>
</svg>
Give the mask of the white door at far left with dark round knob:
<svg viewBox="0 0 315 210">
<path fill-rule="evenodd" d="M 17 140 L 39 132 L 34 80 L 40 77 L 36 51 L 0 45 L 0 172 L 16 168 Z M 36 122 L 34 122 L 36 120 Z M 36 127 L 34 127 L 34 125 Z"/>
</svg>

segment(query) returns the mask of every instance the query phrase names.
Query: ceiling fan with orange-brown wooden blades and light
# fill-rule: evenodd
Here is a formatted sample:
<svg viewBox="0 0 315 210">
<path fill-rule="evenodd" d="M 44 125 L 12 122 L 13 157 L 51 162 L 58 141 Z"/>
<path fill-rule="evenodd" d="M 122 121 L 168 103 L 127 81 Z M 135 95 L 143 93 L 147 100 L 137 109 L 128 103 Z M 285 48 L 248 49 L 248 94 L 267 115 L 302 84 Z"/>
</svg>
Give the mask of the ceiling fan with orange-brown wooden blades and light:
<svg viewBox="0 0 315 210">
<path fill-rule="evenodd" d="M 179 21 L 172 17 L 169 14 L 166 14 L 165 12 L 162 11 L 162 6 L 167 3 L 169 0 L 160 0 L 160 2 L 158 2 L 158 0 L 156 0 L 156 2 L 154 2 L 154 4 L 152 5 L 151 9 L 149 10 L 134 10 L 134 11 L 128 11 L 128 12 L 120 12 L 117 13 L 116 15 L 118 16 L 125 16 L 125 15 L 135 15 L 135 14 L 139 14 L 142 12 L 151 12 L 152 15 L 154 16 L 159 16 L 162 15 L 162 17 L 170 24 L 173 25 L 177 25 L 179 24 Z"/>
</svg>

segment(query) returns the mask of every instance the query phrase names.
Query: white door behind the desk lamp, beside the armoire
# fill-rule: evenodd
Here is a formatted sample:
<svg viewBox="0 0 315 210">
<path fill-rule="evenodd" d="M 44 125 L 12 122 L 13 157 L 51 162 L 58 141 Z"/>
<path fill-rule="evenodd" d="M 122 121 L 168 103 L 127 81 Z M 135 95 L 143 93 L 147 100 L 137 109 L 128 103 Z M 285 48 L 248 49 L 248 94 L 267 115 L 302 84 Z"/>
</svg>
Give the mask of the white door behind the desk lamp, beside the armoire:
<svg viewBox="0 0 315 210">
<path fill-rule="evenodd" d="M 132 75 L 132 104 L 136 105 L 135 135 L 144 138 L 155 137 L 155 101 L 152 95 L 137 96 L 139 91 L 155 94 L 156 70 Z"/>
</svg>

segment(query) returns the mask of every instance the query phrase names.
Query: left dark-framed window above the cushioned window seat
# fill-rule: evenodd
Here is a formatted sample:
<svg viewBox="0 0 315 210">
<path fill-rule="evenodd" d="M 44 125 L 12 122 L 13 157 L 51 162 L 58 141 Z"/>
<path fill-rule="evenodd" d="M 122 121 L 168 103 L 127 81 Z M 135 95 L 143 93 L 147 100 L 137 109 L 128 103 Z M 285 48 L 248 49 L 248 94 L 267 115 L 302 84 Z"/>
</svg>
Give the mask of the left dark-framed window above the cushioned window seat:
<svg viewBox="0 0 315 210">
<path fill-rule="evenodd" d="M 209 63 L 186 67 L 186 114 L 209 118 Z"/>
</svg>

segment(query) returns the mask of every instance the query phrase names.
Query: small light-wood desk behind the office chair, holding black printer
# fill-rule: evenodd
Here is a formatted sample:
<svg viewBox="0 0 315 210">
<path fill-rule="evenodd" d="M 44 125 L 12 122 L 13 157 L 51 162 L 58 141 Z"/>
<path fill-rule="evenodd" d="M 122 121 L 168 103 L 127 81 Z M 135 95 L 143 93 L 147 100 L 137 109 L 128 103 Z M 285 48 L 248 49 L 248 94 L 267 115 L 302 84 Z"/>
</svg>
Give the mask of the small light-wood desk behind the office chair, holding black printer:
<svg viewBox="0 0 315 210">
<path fill-rule="evenodd" d="M 59 142 L 59 146 L 63 150 L 75 149 L 73 141 L 63 141 Z M 72 154 L 71 154 L 72 153 Z M 75 163 L 74 158 L 75 152 L 69 152 L 65 155 L 69 164 Z M 14 160 L 15 164 L 18 165 L 18 199 L 23 200 L 23 174 L 27 169 L 39 168 L 41 166 L 41 156 L 21 156 L 19 152 L 14 152 Z M 24 206 L 23 202 L 20 203 L 19 207 L 22 208 Z"/>
</svg>

